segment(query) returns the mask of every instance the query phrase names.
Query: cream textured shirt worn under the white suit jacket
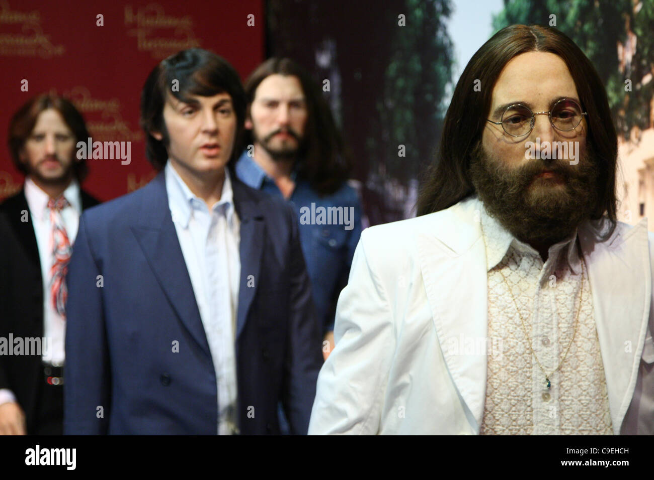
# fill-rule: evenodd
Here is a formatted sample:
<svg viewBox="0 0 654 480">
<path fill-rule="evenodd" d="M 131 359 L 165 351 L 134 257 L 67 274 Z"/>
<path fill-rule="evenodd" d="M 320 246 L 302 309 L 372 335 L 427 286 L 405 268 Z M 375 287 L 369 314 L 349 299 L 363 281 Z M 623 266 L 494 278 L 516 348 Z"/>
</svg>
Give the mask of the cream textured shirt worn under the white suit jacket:
<svg viewBox="0 0 654 480">
<path fill-rule="evenodd" d="M 502 352 L 489 352 L 480 434 L 612 434 L 577 232 L 551 246 L 544 263 L 536 249 L 513 237 L 485 208 L 481 232 L 489 272 L 488 336 L 502 340 Z M 549 375 L 549 389 L 529 344 Z"/>
</svg>

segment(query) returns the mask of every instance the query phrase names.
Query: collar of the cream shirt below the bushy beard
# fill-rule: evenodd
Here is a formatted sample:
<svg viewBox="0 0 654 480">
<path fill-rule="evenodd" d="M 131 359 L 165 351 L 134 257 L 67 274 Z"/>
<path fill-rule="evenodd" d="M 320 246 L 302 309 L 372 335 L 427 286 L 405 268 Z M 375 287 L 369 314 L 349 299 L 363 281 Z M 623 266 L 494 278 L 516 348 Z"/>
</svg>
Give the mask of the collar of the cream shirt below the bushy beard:
<svg viewBox="0 0 654 480">
<path fill-rule="evenodd" d="M 504 259 L 511 246 L 520 253 L 538 255 L 540 257 L 540 253 L 535 248 L 515 238 L 497 219 L 490 216 L 481 201 L 479 203 L 481 204 L 481 234 L 486 244 L 487 271 L 490 271 Z M 581 259 L 579 259 L 579 252 L 577 251 L 576 245 L 577 229 L 565 240 L 552 245 L 549 248 L 548 258 L 556 258 L 560 254 L 560 251 L 564 250 L 570 270 L 574 274 L 579 274 L 581 272 Z"/>
</svg>

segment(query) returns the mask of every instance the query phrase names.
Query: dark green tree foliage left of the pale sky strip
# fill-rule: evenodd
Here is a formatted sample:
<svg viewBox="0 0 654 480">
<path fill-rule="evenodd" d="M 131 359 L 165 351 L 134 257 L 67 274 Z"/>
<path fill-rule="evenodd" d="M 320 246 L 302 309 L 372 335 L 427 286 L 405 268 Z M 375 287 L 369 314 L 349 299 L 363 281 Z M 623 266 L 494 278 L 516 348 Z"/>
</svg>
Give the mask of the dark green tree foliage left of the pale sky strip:
<svg viewBox="0 0 654 480">
<path fill-rule="evenodd" d="M 400 182 L 417 177 L 438 142 L 454 63 L 446 31 L 451 11 L 450 0 L 406 0 L 406 26 L 398 25 L 391 39 L 383 97 L 377 101 L 381 135 L 368 138 L 367 145 Z M 405 157 L 398 157 L 400 144 Z"/>
</svg>

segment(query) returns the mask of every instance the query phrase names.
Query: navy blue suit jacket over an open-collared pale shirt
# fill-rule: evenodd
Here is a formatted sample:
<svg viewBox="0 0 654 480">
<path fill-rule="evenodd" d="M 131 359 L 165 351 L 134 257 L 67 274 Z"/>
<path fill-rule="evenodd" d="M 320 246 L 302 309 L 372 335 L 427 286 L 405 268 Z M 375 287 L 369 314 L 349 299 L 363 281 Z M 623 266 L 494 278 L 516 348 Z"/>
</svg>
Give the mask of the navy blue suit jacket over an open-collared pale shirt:
<svg viewBox="0 0 654 480">
<path fill-rule="evenodd" d="M 285 202 L 235 175 L 232 184 L 241 220 L 239 430 L 279 433 L 281 401 L 292 433 L 305 434 L 322 331 L 298 221 Z M 163 172 L 84 212 L 67 285 L 65 434 L 216 434 L 214 366 Z"/>
</svg>

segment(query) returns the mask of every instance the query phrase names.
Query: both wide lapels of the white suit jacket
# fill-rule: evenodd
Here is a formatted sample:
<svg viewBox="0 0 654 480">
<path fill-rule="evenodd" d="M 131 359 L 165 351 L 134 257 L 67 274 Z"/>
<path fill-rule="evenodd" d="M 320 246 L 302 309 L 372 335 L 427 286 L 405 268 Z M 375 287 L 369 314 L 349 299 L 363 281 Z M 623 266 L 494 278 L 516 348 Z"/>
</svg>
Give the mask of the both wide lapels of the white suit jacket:
<svg viewBox="0 0 654 480">
<path fill-rule="evenodd" d="M 461 348 L 462 340 L 485 338 L 488 332 L 486 253 L 475 211 L 479 204 L 473 198 L 438 212 L 438 221 L 418 236 L 417 248 L 443 357 L 478 431 L 487 358 L 461 355 L 447 343 L 454 339 Z M 619 434 L 634 393 L 649 319 L 647 220 L 632 228 L 619 225 L 606 242 L 596 240 L 597 231 L 596 223 L 581 225 L 579 241 L 593 296 L 613 432 Z"/>
</svg>

